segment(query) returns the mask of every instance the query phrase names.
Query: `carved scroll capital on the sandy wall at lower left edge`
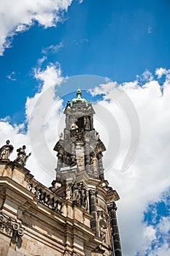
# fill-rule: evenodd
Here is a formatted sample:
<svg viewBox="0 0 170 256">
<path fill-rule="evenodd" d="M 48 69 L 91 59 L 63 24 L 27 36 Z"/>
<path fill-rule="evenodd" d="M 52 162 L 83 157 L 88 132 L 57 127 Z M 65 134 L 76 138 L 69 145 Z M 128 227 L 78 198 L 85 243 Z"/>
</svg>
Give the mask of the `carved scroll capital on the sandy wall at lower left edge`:
<svg viewBox="0 0 170 256">
<path fill-rule="evenodd" d="M 21 227 L 20 223 L 12 220 L 10 217 L 0 214 L 0 230 L 9 236 L 23 236 L 24 228 Z"/>
</svg>

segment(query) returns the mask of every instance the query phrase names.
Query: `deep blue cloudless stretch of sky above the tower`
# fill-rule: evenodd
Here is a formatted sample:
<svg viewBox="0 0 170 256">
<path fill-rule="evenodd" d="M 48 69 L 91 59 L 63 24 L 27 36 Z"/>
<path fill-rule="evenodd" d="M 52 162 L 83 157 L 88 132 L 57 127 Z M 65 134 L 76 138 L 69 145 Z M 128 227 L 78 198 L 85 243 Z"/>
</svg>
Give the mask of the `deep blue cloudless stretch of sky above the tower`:
<svg viewBox="0 0 170 256">
<path fill-rule="evenodd" d="M 1 101 L 2 116 L 23 118 L 26 97 L 37 87 L 33 68 L 42 56 L 47 57 L 44 67 L 57 61 L 63 75 L 107 76 L 118 83 L 134 80 L 145 69 L 169 67 L 169 8 L 169 1 L 158 0 L 73 1 L 56 27 L 44 29 L 35 22 L 15 35 L 1 56 L 0 83 L 13 106 L 4 108 Z M 50 45 L 59 47 L 50 50 Z"/>
</svg>

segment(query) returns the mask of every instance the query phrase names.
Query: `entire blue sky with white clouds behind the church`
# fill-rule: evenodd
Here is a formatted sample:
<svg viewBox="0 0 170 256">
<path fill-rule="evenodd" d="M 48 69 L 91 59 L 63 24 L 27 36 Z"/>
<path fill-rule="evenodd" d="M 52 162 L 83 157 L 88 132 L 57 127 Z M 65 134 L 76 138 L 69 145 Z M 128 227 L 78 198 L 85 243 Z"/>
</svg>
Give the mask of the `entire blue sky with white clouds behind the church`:
<svg viewBox="0 0 170 256">
<path fill-rule="evenodd" d="M 168 0 L 0 1 L 0 146 L 26 144 L 26 167 L 49 187 L 80 87 L 120 195 L 124 256 L 170 255 L 169 12 Z"/>
</svg>

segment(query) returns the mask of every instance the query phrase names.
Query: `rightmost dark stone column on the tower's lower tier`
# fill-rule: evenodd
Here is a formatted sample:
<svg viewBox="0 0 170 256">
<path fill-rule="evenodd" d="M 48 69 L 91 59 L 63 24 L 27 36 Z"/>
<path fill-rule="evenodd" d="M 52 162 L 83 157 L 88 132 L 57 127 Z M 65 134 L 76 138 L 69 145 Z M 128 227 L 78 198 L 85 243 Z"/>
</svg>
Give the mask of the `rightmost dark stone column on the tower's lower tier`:
<svg viewBox="0 0 170 256">
<path fill-rule="evenodd" d="M 109 211 L 110 224 L 111 224 L 111 228 L 112 228 L 112 240 L 113 240 L 115 256 L 122 256 L 119 230 L 118 230 L 117 217 L 116 217 L 117 206 L 114 202 L 114 203 L 109 204 L 109 206 L 107 206 L 107 207 L 108 207 L 108 211 Z"/>
</svg>

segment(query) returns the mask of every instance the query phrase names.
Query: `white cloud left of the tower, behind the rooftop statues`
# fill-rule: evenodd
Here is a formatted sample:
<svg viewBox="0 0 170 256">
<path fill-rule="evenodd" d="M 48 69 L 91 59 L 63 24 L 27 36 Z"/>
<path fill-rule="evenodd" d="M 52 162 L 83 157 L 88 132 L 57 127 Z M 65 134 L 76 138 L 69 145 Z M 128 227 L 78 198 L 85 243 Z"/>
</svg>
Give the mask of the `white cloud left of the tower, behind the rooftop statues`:
<svg viewBox="0 0 170 256">
<path fill-rule="evenodd" d="M 28 132 L 22 132 L 24 124 L 14 126 L 9 124 L 10 120 L 7 117 L 0 121 L 0 141 L 5 143 L 9 139 L 15 150 L 20 146 L 26 145 L 26 152 L 32 151 L 26 167 L 31 170 L 35 178 L 39 178 L 40 182 L 50 186 L 50 182 L 55 178 L 56 167 L 53 147 L 58 140 L 58 133 L 60 132 L 55 127 L 57 127 L 61 115 L 59 113 L 61 99 L 55 97 L 55 86 L 60 86 L 63 78 L 60 67 L 56 67 L 53 64 L 47 66 L 45 70 L 38 68 L 34 72 L 35 78 L 42 82 L 42 86 L 34 97 L 28 98 L 26 101 Z M 50 110 L 52 106 L 53 111 Z M 48 116 L 48 111 L 50 111 L 50 116 Z M 53 116 L 53 125 L 49 125 L 51 116 Z M 47 148 L 52 148 L 52 150 L 48 151 Z M 14 151 L 10 159 L 14 160 L 16 157 L 17 154 Z"/>
</svg>

